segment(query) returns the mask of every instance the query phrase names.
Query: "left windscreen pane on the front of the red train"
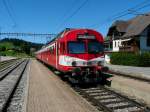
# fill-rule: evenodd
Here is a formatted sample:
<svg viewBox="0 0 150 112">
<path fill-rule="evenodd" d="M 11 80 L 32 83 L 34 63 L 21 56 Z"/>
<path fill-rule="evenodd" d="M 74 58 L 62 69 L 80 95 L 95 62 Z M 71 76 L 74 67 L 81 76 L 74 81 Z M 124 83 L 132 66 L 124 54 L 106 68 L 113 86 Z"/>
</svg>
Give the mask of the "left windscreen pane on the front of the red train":
<svg viewBox="0 0 150 112">
<path fill-rule="evenodd" d="M 86 52 L 85 43 L 84 42 L 69 42 L 68 52 L 70 54 L 85 53 Z"/>
</svg>

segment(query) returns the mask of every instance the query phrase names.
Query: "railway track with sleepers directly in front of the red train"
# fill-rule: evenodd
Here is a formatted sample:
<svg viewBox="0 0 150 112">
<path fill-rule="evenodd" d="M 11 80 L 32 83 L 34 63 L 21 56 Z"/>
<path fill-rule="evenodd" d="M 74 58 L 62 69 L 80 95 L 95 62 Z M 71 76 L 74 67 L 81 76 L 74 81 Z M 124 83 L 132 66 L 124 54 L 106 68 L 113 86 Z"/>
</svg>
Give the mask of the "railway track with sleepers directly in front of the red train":
<svg viewBox="0 0 150 112">
<path fill-rule="evenodd" d="M 150 112 L 145 105 L 103 86 L 74 89 L 103 112 Z"/>
</svg>

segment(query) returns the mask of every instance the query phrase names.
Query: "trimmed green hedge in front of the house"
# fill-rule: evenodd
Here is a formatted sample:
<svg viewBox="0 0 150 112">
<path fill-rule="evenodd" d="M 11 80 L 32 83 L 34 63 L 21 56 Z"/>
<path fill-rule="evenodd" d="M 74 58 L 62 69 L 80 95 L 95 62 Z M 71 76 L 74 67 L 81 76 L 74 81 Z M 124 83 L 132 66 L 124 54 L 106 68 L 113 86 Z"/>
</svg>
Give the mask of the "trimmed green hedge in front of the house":
<svg viewBox="0 0 150 112">
<path fill-rule="evenodd" d="M 116 65 L 150 67 L 150 52 L 142 54 L 129 52 L 112 53 L 111 63 Z"/>
</svg>

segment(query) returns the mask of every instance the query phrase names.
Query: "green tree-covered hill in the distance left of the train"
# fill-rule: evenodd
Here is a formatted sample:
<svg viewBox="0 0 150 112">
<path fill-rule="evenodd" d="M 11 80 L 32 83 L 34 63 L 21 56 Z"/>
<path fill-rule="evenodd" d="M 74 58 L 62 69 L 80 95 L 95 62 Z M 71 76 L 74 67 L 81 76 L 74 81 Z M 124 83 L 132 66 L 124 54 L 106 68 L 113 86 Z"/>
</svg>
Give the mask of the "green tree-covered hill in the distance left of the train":
<svg viewBox="0 0 150 112">
<path fill-rule="evenodd" d="M 0 55 L 27 57 L 33 56 L 43 44 L 32 43 L 21 39 L 5 38 L 0 41 Z"/>
</svg>

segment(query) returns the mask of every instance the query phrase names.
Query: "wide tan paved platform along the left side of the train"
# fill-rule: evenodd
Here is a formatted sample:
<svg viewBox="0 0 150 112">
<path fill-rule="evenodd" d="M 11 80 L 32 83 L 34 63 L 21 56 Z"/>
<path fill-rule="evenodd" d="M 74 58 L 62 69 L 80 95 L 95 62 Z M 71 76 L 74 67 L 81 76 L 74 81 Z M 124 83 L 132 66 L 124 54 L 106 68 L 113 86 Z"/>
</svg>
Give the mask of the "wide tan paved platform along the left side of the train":
<svg viewBox="0 0 150 112">
<path fill-rule="evenodd" d="M 27 112 L 98 112 L 38 61 L 30 67 Z"/>
</svg>

